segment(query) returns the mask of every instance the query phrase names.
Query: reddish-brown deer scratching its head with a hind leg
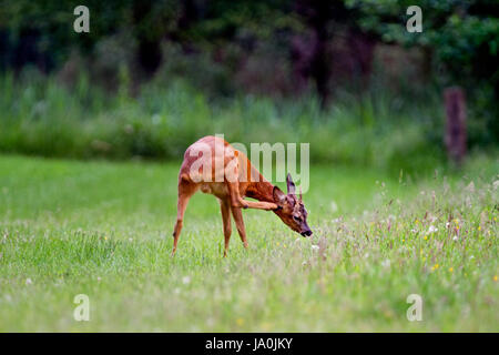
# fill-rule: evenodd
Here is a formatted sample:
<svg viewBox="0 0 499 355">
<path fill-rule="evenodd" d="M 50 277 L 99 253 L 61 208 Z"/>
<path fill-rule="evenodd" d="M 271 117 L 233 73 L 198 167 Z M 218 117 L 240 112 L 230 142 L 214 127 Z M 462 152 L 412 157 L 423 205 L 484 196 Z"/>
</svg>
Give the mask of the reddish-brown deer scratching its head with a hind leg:
<svg viewBox="0 0 499 355">
<path fill-rule="evenodd" d="M 179 172 L 177 215 L 173 231 L 172 256 L 176 252 L 187 203 L 200 190 L 214 195 L 220 202 L 225 239 L 224 257 L 227 256 L 232 234 L 231 214 L 244 247 L 248 248 L 243 209 L 273 211 L 291 230 L 304 237 L 310 236 L 313 232 L 307 224 L 302 191 L 297 196 L 289 173 L 286 184 L 287 194 L 268 182 L 243 152 L 234 149 L 224 139 L 207 135 L 197 140 L 185 151 Z"/>
</svg>

